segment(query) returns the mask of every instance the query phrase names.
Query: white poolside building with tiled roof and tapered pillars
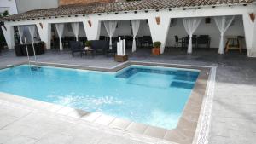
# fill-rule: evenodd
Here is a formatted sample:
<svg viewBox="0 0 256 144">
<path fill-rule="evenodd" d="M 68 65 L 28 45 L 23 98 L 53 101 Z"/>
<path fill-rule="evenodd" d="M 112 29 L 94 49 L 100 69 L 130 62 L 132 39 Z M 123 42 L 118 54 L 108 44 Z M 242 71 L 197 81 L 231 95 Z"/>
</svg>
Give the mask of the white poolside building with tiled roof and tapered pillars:
<svg viewBox="0 0 256 144">
<path fill-rule="evenodd" d="M 161 53 L 164 53 L 166 47 L 174 45 L 174 36 L 176 35 L 179 37 L 210 35 L 211 47 L 220 49 L 220 51 L 224 49 L 224 46 L 221 45 L 225 43 L 225 36 L 236 35 L 245 38 L 243 47 L 247 49 L 247 55 L 250 57 L 256 56 L 255 1 L 245 0 L 238 3 L 236 1 L 229 3 L 188 2 L 142 0 L 117 3 L 99 2 L 99 4 L 92 5 L 64 4 L 54 9 L 38 9 L 9 16 L 2 20 L 4 22 L 2 29 L 4 29 L 9 48 L 13 48 L 13 26 L 37 26 L 41 40 L 46 43 L 47 49 L 51 49 L 52 29 L 55 29 L 56 24 L 64 24 L 64 35 L 72 36 L 73 31 L 70 28 L 68 29 L 70 27 L 68 25 L 79 23 L 79 36 L 87 37 L 88 40 L 96 40 L 100 36 L 108 37 L 106 21 L 116 21 L 118 23 L 113 37 L 119 37 L 120 35 L 132 36 L 131 20 L 139 20 L 140 26 L 137 37 L 150 36 L 153 42 L 160 41 L 162 43 Z M 229 20 L 230 18 L 232 20 Z M 206 22 L 206 19 L 210 19 L 210 22 Z M 191 34 L 184 26 L 185 20 L 197 20 L 197 22 L 200 20 L 201 22 Z M 225 31 L 222 31 L 222 28 L 216 25 L 218 20 L 224 20 L 222 22 L 223 26 L 227 26 L 226 23 L 230 22 L 227 27 L 224 27 Z M 191 53 L 192 48 L 189 48 L 188 52 Z M 223 54 L 223 52 L 219 53 Z"/>
</svg>

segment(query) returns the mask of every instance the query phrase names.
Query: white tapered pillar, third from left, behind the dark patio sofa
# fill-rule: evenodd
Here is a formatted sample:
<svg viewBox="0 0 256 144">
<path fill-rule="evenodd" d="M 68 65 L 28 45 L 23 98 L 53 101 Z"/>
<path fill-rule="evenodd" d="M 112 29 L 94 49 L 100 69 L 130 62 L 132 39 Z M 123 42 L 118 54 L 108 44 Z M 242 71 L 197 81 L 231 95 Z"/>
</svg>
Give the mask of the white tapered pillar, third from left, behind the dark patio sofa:
<svg viewBox="0 0 256 144">
<path fill-rule="evenodd" d="M 84 31 L 88 40 L 98 40 L 101 32 L 101 21 L 86 19 L 83 21 Z"/>
</svg>

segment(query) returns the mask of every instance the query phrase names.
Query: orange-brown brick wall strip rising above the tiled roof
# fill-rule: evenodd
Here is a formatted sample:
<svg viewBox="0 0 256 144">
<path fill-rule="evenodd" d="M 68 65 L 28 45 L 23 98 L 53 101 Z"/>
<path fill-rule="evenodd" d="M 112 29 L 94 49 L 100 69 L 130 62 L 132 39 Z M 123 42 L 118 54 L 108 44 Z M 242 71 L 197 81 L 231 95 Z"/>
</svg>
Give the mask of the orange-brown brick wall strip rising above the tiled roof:
<svg viewBox="0 0 256 144">
<path fill-rule="evenodd" d="M 110 3 L 116 0 L 59 0 L 59 5 L 78 4 L 78 3 Z"/>
</svg>

